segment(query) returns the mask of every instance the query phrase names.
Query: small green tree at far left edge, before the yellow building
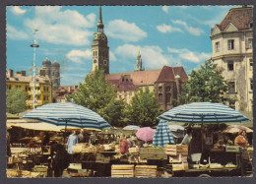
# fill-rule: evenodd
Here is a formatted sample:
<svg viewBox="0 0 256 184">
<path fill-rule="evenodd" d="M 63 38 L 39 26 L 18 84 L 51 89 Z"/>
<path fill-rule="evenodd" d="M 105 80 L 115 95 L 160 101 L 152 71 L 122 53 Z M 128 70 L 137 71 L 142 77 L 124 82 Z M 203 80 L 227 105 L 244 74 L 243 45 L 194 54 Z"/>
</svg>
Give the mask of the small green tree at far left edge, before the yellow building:
<svg viewBox="0 0 256 184">
<path fill-rule="evenodd" d="M 21 89 L 6 90 L 6 111 L 17 114 L 26 110 L 26 95 Z"/>
</svg>

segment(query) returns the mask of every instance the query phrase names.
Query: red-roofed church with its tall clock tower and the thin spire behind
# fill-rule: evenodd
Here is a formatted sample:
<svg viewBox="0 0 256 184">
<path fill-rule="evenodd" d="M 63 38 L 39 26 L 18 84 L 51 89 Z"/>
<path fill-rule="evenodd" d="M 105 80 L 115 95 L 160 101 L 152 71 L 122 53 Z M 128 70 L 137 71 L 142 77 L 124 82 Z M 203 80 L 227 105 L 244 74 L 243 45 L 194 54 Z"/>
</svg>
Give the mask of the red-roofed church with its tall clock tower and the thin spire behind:
<svg viewBox="0 0 256 184">
<path fill-rule="evenodd" d="M 178 99 L 182 84 L 188 80 L 184 68 L 163 66 L 161 69 L 145 70 L 140 49 L 138 49 L 133 72 L 109 74 L 109 47 L 103 28 L 101 7 L 99 7 L 97 31 L 92 45 L 93 71 L 104 70 L 108 83 L 117 87 L 118 99 L 123 98 L 127 103 L 131 103 L 136 92 L 148 87 L 150 92 L 154 92 L 157 96 L 161 111 L 173 108 L 173 100 Z"/>
</svg>

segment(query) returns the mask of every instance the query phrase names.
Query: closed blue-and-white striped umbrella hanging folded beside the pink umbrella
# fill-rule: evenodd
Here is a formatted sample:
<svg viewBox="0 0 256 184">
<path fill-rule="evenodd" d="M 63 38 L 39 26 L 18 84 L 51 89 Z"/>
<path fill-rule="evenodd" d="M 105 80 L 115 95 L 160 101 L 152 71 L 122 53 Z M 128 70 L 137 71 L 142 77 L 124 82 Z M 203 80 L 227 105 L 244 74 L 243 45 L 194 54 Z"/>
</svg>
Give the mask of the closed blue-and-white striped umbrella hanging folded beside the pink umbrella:
<svg viewBox="0 0 256 184">
<path fill-rule="evenodd" d="M 173 136 L 166 122 L 160 121 L 157 130 L 154 134 L 153 145 L 164 147 L 167 144 L 174 145 L 175 142 L 173 140 Z"/>
</svg>

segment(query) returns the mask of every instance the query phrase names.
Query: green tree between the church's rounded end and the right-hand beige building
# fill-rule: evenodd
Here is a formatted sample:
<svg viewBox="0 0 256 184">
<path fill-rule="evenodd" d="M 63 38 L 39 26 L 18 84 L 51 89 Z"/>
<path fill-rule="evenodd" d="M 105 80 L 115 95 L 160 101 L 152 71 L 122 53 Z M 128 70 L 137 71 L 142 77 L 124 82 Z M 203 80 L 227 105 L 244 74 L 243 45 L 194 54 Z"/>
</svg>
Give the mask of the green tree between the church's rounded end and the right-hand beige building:
<svg viewBox="0 0 256 184">
<path fill-rule="evenodd" d="M 205 61 L 199 70 L 192 70 L 190 78 L 182 86 L 179 103 L 224 102 L 223 93 L 228 86 L 224 82 L 222 71 L 212 60 Z"/>
</svg>

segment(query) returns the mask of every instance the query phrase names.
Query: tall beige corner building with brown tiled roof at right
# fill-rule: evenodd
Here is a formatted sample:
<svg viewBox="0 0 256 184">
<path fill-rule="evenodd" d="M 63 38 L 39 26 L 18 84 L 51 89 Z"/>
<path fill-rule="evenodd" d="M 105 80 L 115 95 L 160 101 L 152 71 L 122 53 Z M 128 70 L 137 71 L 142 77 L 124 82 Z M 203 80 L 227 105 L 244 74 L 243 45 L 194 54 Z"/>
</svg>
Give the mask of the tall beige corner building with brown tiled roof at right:
<svg viewBox="0 0 256 184">
<path fill-rule="evenodd" d="M 227 105 L 252 111 L 253 105 L 253 9 L 232 8 L 211 32 L 212 59 L 228 84 Z"/>
</svg>

